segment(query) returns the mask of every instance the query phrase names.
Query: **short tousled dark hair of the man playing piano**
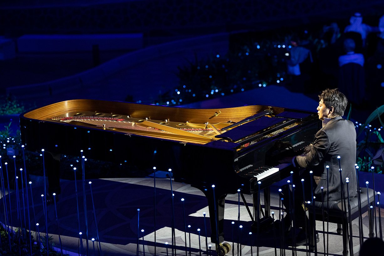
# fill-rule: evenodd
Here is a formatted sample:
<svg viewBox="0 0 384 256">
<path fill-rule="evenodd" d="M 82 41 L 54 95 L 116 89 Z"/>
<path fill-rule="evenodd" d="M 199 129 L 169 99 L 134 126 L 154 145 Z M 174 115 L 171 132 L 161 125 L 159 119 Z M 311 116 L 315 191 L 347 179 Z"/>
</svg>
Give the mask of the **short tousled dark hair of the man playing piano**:
<svg viewBox="0 0 384 256">
<path fill-rule="evenodd" d="M 319 100 L 323 100 L 325 107 L 330 109 L 334 108 L 334 114 L 337 116 L 343 116 L 344 111 L 347 108 L 348 99 L 343 93 L 336 89 L 325 89 L 319 95 Z"/>
</svg>

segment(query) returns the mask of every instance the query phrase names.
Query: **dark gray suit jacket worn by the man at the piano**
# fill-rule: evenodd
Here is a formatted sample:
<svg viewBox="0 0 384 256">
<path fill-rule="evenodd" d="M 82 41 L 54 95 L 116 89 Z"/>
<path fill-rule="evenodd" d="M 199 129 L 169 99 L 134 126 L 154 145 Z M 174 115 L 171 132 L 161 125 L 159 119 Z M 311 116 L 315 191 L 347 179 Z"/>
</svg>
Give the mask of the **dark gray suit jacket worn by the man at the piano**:
<svg viewBox="0 0 384 256">
<path fill-rule="evenodd" d="M 356 130 L 353 122 L 341 116 L 332 118 L 320 129 L 305 155 L 296 156 L 300 167 L 306 168 L 305 172 L 313 171 L 314 195 L 316 201 L 327 200 L 327 169 L 329 165 L 329 200 L 341 199 L 341 185 L 338 156 L 340 156 L 341 176 L 344 184 L 345 197 L 347 195 L 346 177 L 349 178 L 349 196 L 355 197 L 356 184 Z M 321 195 L 321 187 L 324 187 Z"/>
</svg>

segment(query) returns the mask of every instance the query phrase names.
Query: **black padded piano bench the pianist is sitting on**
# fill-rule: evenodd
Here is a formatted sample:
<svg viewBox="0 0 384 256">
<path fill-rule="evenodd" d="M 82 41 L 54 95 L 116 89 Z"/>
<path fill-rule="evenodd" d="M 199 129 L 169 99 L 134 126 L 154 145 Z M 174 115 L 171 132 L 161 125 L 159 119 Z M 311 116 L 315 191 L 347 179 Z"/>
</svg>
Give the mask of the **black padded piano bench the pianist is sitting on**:
<svg viewBox="0 0 384 256">
<path fill-rule="evenodd" d="M 369 205 L 368 205 L 368 197 L 367 192 L 369 195 Z M 376 192 L 373 191 L 371 188 L 360 188 L 360 200 L 361 200 L 361 214 L 365 213 L 369 206 L 374 204 L 374 196 L 376 195 Z M 351 204 L 351 218 L 349 218 L 348 213 L 348 198 L 345 199 L 345 205 L 347 208 L 347 211 L 344 209 L 343 205 L 343 214 L 341 212 L 341 201 L 329 201 L 329 207 L 327 205 L 327 202 L 324 202 L 324 221 L 329 221 L 331 223 L 336 223 L 338 225 L 337 233 L 343 235 L 343 255 L 348 255 L 348 239 L 349 239 L 349 226 L 351 221 L 353 221 L 356 218 L 359 218 L 359 204 L 358 204 L 358 197 L 351 197 L 349 198 L 350 204 Z M 315 220 L 323 221 L 323 203 L 315 201 Z M 310 215 L 310 225 L 313 225 L 313 208 L 310 207 L 309 209 L 309 215 Z M 315 224 L 316 225 L 316 224 Z M 314 227 L 316 229 L 316 226 Z M 310 229 L 310 230 L 314 230 Z M 343 231 L 344 230 L 344 231 Z M 369 237 L 373 237 L 373 225 L 371 221 L 369 221 Z M 310 241 L 310 248 L 314 248 L 314 240 L 311 239 Z"/>
</svg>

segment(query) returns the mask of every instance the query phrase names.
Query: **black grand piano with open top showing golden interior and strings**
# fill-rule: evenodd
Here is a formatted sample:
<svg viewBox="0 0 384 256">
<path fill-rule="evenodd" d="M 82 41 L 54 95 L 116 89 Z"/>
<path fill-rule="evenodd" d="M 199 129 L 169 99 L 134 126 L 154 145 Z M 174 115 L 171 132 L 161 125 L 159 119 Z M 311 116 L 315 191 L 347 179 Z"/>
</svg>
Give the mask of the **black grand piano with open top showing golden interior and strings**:
<svg viewBox="0 0 384 256">
<path fill-rule="evenodd" d="M 207 197 L 212 243 L 228 252 L 223 222 L 227 194 L 254 194 L 288 177 L 319 130 L 316 113 L 273 106 L 188 109 L 75 99 L 20 115 L 26 150 L 172 169 L 176 182 Z M 260 182 L 260 184 L 259 184 Z M 213 186 L 214 185 L 214 186 Z"/>
</svg>

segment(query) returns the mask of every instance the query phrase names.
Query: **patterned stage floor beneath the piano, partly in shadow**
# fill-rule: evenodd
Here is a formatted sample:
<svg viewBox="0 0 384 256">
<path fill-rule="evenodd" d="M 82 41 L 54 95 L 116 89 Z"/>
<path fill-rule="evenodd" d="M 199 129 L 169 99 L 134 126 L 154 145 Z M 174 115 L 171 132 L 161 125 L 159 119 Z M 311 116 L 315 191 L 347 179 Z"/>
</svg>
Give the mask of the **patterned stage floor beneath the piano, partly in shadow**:
<svg viewBox="0 0 384 256">
<path fill-rule="evenodd" d="M 97 220 L 98 233 L 101 241 L 102 255 L 136 255 L 137 250 L 137 229 L 139 221 L 139 255 L 154 255 L 154 238 L 156 227 L 156 255 L 171 255 L 171 227 L 172 227 L 172 204 L 171 204 L 171 190 L 169 178 L 156 178 L 156 226 L 155 211 L 154 211 L 154 179 L 153 178 L 108 178 L 98 180 L 86 180 L 86 209 L 88 219 L 88 255 L 99 255 L 97 243 L 95 242 L 95 254 L 93 251 L 93 244 L 91 238 L 97 240 L 96 225 L 93 214 L 93 203 L 91 198 L 91 191 L 89 181 L 91 181 L 95 216 Z M 275 211 L 275 218 L 280 212 L 278 188 L 284 183 L 275 183 L 271 186 L 271 210 Z M 204 194 L 184 183 L 177 183 L 172 181 L 172 188 L 174 193 L 174 215 L 175 215 L 175 241 L 177 255 L 185 255 L 185 236 L 187 237 L 187 251 L 189 251 L 189 231 L 190 231 L 190 250 L 192 255 L 207 255 L 205 246 L 205 223 L 207 225 L 207 233 L 210 234 L 209 227 L 209 211 L 207 206 L 207 199 Z M 65 253 L 71 255 L 81 254 L 81 246 L 79 243 L 78 235 L 78 217 L 76 207 L 76 188 L 74 181 L 61 182 L 61 195 L 56 204 L 58 211 L 58 223 L 60 227 L 61 241 Z M 78 207 L 79 207 L 79 220 L 80 231 L 83 233 L 83 253 L 86 255 L 86 224 L 84 215 L 83 204 L 83 183 L 77 182 L 78 189 Z M 33 200 L 36 213 L 36 221 L 33 220 L 32 208 L 31 223 L 38 222 L 40 235 L 45 233 L 45 217 L 43 211 L 43 203 L 41 194 L 43 187 L 33 187 Z M 11 196 L 15 193 L 11 193 Z M 183 211 L 184 198 L 185 215 Z M 263 197 L 261 197 L 263 198 Z M 252 196 L 245 195 L 248 205 L 252 205 Z M 240 199 L 241 200 L 241 199 Z M 14 200 L 11 200 L 14 202 Z M 31 201 L 30 201 L 31 203 Z M 262 200 L 263 205 L 263 200 Z M 137 209 L 140 209 L 138 211 Z M 56 248 L 60 248 L 58 240 L 58 227 L 55 218 L 55 206 L 48 205 L 48 233 L 53 235 L 53 240 Z M 12 208 L 14 219 L 17 220 L 16 209 Z M 206 212 L 204 219 L 203 212 Z M 139 216 L 138 216 L 139 214 Z M 184 216 L 186 225 L 191 227 L 187 228 L 185 233 Z M 382 213 L 382 216 L 384 214 Z M 225 221 L 224 232 L 225 241 L 231 246 L 234 244 L 234 254 L 241 247 L 241 255 L 257 255 L 257 243 L 260 244 L 260 255 L 275 255 L 275 234 L 273 229 L 261 231 L 259 239 L 257 239 L 257 232 L 252 231 L 252 239 L 249 232 L 251 231 L 251 218 L 243 204 L 240 201 L 240 222 L 238 222 L 238 195 L 228 195 L 225 201 Z M 367 214 L 363 215 L 363 230 L 364 235 L 367 237 L 368 233 L 368 218 Z M 234 221 L 235 224 L 231 224 Z M 378 223 L 378 222 L 377 222 Z M 353 228 L 353 251 L 358 255 L 359 251 L 359 238 L 358 234 L 358 220 L 352 223 Z M 241 237 L 238 237 L 239 225 L 242 225 Z M 319 254 L 324 252 L 323 244 L 323 223 L 317 222 L 316 229 L 319 231 L 320 242 L 317 244 Z M 200 228 L 200 236 L 197 229 Z M 232 236 L 232 228 L 234 235 Z M 342 255 L 343 242 L 342 236 L 336 233 L 337 225 L 329 223 L 329 254 Z M 325 224 L 326 229 L 326 224 Z M 378 229 L 378 228 L 377 228 Z M 35 230 L 35 228 L 31 228 Z M 35 233 L 33 232 L 35 236 Z M 200 238 L 200 243 L 199 243 Z M 241 245 L 237 247 L 238 241 L 241 239 Z M 166 242 L 168 244 L 166 244 Z M 278 247 L 281 242 L 280 234 L 276 233 L 276 242 Z M 144 244 L 144 247 L 143 247 Z M 208 244 L 210 238 L 208 238 Z M 251 249 L 252 246 L 252 249 Z M 199 249 L 200 248 L 200 249 Z M 215 245 L 212 244 L 212 251 L 208 255 L 216 255 L 214 252 Z M 285 253 L 290 254 L 291 248 L 286 247 Z M 306 246 L 299 246 L 297 248 L 297 255 L 306 255 Z M 201 254 L 200 254 L 201 253 Z M 280 254 L 280 249 L 277 249 L 277 254 Z M 232 255 L 232 251 L 227 255 Z"/>
</svg>

